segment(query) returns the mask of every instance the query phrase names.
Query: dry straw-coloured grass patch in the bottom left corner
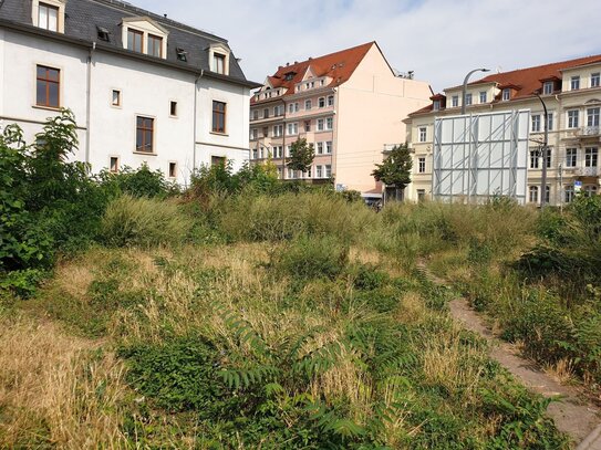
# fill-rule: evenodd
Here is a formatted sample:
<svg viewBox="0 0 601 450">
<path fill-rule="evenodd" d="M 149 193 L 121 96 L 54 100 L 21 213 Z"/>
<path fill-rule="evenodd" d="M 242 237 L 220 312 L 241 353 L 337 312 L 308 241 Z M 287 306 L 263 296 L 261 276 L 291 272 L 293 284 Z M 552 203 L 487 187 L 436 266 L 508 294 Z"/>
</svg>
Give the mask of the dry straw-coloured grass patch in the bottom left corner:
<svg viewBox="0 0 601 450">
<path fill-rule="evenodd" d="M 0 318 L 0 447 L 121 448 L 124 369 L 92 342 Z"/>
</svg>

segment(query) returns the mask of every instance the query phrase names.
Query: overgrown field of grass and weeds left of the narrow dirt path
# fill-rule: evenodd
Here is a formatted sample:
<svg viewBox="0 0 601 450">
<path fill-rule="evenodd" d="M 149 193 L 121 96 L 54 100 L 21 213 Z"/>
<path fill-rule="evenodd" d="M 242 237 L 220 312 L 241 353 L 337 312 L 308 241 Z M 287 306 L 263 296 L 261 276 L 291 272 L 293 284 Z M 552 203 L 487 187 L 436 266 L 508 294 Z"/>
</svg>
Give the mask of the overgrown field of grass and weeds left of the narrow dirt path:
<svg viewBox="0 0 601 450">
<path fill-rule="evenodd" d="M 29 405 L 44 376 L 3 381 L 19 400 L 0 397 L 0 447 L 48 442 L 55 429 L 71 448 L 568 447 L 547 404 L 488 358 L 448 316 L 448 291 L 415 270 L 431 258 L 442 272 L 494 273 L 535 242 L 533 211 L 433 203 L 376 214 L 333 192 L 187 201 L 122 197 L 104 218 L 111 245 L 62 261 L 18 302 L 64 327 L 23 352 L 27 370 L 69 374 L 77 407 L 45 402 L 14 426 L 21 416 L 3 411 Z M 17 341 L 0 332 L 4 342 Z M 14 360 L 0 374 L 19 373 Z M 91 364 L 104 367 L 95 378 Z"/>
</svg>

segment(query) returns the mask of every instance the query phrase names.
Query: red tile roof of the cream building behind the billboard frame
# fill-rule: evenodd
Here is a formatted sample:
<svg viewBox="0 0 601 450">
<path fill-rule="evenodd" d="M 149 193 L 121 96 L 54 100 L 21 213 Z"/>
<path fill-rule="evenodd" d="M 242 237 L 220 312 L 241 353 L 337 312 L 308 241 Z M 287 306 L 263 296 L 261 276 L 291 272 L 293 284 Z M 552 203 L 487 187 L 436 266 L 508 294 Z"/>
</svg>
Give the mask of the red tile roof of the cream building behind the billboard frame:
<svg viewBox="0 0 601 450">
<path fill-rule="evenodd" d="M 545 80 L 561 80 L 561 72 L 567 69 L 574 69 L 599 62 L 601 62 L 601 55 L 594 55 L 551 64 L 538 65 L 535 67 L 519 69 L 511 72 L 494 73 L 485 76 L 484 79 L 469 83 L 468 86 L 477 86 L 478 84 L 484 83 L 496 83 L 499 88 L 502 86 L 511 86 L 516 88 L 515 94 L 511 96 L 512 101 L 528 98 L 531 97 L 536 91 L 542 87 L 542 82 Z M 449 87 L 447 88 L 447 91 L 458 87 L 462 86 Z M 428 113 L 432 112 L 432 105 L 428 105 L 421 109 L 414 111 L 410 114 L 410 116 L 413 116 L 415 114 Z"/>
</svg>

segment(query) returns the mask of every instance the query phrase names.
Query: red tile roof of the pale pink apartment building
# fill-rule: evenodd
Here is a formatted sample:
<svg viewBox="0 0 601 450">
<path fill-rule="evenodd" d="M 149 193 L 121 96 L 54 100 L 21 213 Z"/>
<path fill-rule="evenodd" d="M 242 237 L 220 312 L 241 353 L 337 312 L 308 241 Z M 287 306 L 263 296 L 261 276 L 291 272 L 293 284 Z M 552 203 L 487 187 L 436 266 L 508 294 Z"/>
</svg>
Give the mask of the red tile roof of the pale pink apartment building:
<svg viewBox="0 0 601 450">
<path fill-rule="evenodd" d="M 351 77 L 355 69 L 359 66 L 370 49 L 376 45 L 375 42 L 367 42 L 362 45 L 353 46 L 352 49 L 342 50 L 340 52 L 327 54 L 319 57 L 310 57 L 305 61 L 280 66 L 278 71 L 268 76 L 268 81 L 272 88 L 284 88 L 283 95 L 294 93 L 294 85 L 302 82 L 303 76 L 309 67 L 315 77 L 329 76 L 332 82 L 329 87 L 338 86 Z M 287 74 L 293 74 L 291 80 L 286 80 Z M 272 98 L 269 98 L 272 100 Z M 251 104 L 260 103 L 251 98 Z"/>
</svg>

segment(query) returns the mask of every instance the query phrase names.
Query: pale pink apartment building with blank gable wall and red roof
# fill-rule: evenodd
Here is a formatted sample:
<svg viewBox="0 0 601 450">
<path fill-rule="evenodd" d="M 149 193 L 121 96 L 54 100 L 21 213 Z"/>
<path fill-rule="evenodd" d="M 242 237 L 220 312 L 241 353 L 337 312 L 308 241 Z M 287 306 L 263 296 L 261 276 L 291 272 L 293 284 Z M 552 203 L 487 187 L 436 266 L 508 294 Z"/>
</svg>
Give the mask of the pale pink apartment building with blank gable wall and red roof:
<svg viewBox="0 0 601 450">
<path fill-rule="evenodd" d="M 431 95 L 427 83 L 395 74 L 375 42 L 279 66 L 250 101 L 251 160 L 270 158 L 282 179 L 334 179 L 377 198 L 371 172 L 384 145 L 404 142 L 403 119 Z M 315 148 L 305 174 L 287 168 L 299 138 Z"/>
</svg>

